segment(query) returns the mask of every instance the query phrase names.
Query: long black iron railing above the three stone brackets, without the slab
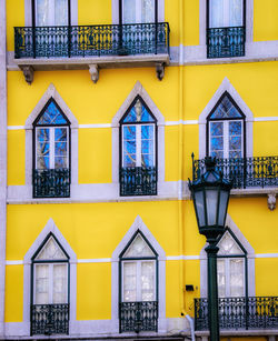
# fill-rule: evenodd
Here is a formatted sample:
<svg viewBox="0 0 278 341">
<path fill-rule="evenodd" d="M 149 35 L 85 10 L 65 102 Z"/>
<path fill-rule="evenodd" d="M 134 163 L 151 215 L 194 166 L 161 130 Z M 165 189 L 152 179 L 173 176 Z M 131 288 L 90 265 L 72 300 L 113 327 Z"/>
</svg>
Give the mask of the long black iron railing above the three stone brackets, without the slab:
<svg viewBox="0 0 278 341">
<path fill-rule="evenodd" d="M 14 58 L 169 54 L 169 23 L 16 27 Z"/>
</svg>

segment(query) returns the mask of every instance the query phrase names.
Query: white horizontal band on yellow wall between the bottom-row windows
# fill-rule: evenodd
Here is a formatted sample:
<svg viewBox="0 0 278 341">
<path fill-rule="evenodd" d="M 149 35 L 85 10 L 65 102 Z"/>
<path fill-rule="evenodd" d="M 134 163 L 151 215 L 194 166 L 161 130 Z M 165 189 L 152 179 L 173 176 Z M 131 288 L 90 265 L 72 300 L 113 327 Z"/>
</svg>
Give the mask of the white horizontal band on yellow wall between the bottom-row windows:
<svg viewBox="0 0 278 341">
<path fill-rule="evenodd" d="M 255 258 L 278 258 L 278 253 L 257 253 Z M 200 255 L 168 255 L 166 260 L 178 261 L 178 260 L 199 260 Z M 110 263 L 111 258 L 96 258 L 96 259 L 79 259 L 77 263 Z M 6 265 L 22 265 L 23 261 L 6 261 Z"/>
</svg>

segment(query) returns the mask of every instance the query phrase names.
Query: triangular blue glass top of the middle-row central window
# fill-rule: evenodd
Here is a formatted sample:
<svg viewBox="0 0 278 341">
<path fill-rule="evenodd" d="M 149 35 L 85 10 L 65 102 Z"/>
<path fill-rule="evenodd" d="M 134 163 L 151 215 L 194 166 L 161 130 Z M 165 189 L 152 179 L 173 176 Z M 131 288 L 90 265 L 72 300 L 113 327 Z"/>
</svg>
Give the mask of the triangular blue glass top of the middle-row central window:
<svg viewBox="0 0 278 341">
<path fill-rule="evenodd" d="M 149 109 L 142 102 L 140 98 L 133 101 L 132 107 L 122 118 L 122 123 L 143 123 L 143 122 L 156 122 L 156 119 L 150 113 Z"/>
</svg>

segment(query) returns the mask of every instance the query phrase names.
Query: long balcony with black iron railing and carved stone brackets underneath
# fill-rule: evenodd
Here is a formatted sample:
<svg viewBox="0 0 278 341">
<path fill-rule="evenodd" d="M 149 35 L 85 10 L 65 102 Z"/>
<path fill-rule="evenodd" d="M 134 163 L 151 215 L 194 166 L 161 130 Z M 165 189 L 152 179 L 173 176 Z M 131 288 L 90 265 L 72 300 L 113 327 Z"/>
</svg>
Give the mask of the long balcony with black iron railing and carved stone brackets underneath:
<svg viewBox="0 0 278 341">
<path fill-rule="evenodd" d="M 159 79 L 169 64 L 169 23 L 16 27 L 14 62 L 32 82 L 34 70 L 156 66 Z M 97 76 L 96 76 L 97 73 Z"/>
</svg>

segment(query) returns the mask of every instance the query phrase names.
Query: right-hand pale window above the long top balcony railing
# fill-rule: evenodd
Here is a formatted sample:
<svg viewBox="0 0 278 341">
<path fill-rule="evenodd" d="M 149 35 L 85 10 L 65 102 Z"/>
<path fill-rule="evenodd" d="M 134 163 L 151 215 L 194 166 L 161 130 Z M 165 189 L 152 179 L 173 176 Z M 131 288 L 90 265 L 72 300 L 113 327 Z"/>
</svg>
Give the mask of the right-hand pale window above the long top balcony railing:
<svg viewBox="0 0 278 341">
<path fill-rule="evenodd" d="M 122 23 L 157 22 L 157 0 L 120 0 Z"/>
</svg>

